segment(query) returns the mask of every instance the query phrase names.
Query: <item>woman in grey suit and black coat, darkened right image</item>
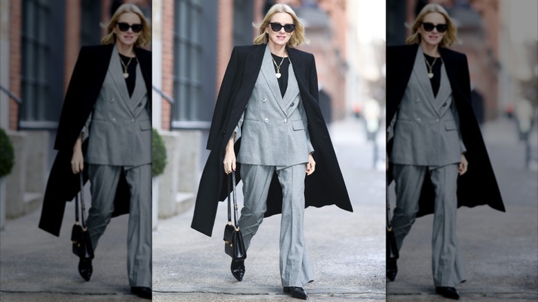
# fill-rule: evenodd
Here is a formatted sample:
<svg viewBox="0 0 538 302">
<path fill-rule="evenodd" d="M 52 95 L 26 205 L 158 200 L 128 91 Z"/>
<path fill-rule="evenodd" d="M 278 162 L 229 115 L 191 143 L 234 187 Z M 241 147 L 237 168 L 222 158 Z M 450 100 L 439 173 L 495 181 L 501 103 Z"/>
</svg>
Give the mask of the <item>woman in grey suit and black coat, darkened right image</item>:
<svg viewBox="0 0 538 302">
<path fill-rule="evenodd" d="M 398 248 L 416 217 L 434 213 L 432 271 L 435 292 L 459 299 L 465 281 L 456 238 L 459 205 L 488 204 L 504 212 L 501 194 L 470 105 L 464 54 L 448 50 L 455 24 L 437 4 L 425 6 L 408 46 L 387 48 L 389 185 L 395 180 L 392 217 Z M 390 281 L 396 261 L 387 263 Z"/>
</svg>

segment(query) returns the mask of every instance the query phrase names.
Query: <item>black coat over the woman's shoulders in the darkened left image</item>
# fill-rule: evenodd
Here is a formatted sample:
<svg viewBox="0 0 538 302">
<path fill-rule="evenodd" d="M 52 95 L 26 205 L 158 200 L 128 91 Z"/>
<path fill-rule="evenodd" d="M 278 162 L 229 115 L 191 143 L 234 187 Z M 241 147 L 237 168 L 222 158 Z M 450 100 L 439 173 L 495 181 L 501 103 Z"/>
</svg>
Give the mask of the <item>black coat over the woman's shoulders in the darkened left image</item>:
<svg viewBox="0 0 538 302">
<path fill-rule="evenodd" d="M 58 132 L 54 149 L 58 150 L 56 159 L 47 182 L 43 209 L 39 228 L 59 236 L 63 212 L 66 201 L 71 201 L 79 193 L 79 176 L 71 171 L 71 157 L 73 146 L 90 116 L 95 101 L 99 97 L 101 86 L 108 71 L 108 65 L 114 44 L 104 46 L 85 46 L 81 48 L 79 58 L 69 81 L 66 99 L 63 101 Z M 148 105 L 151 108 L 151 52 L 142 48 L 135 48 L 135 54 L 140 64 L 142 76 L 148 90 Z M 88 140 L 82 145 L 83 154 L 86 155 Z M 84 170 L 84 183 L 88 180 Z M 112 217 L 129 212 L 130 193 L 125 177 L 120 177 L 116 198 L 114 199 L 114 213 Z M 73 218 L 74 221 L 74 218 Z"/>
</svg>

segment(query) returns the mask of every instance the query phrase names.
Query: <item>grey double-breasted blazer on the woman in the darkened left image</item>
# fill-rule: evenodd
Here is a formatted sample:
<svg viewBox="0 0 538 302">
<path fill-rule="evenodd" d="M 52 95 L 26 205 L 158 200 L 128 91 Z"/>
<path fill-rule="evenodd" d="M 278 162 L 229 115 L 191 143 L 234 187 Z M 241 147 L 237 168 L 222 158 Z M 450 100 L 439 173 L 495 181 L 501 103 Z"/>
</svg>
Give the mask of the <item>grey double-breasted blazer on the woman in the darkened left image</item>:
<svg viewBox="0 0 538 302">
<path fill-rule="evenodd" d="M 123 166 L 151 163 L 151 121 L 146 110 L 148 91 L 140 64 L 137 64 L 135 90 L 129 97 L 119 60 L 114 47 L 101 92 L 88 118 L 87 163 Z"/>
</svg>

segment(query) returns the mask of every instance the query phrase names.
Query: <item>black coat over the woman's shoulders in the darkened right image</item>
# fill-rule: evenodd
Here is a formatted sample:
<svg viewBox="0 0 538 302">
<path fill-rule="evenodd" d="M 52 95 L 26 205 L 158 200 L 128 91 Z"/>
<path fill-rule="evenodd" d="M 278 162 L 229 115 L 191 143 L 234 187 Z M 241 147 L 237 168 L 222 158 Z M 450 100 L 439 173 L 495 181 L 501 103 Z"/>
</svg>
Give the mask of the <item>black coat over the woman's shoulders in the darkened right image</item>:
<svg viewBox="0 0 538 302">
<path fill-rule="evenodd" d="M 419 44 L 387 47 L 386 121 L 388 122 L 392 121 L 407 88 L 418 47 Z M 446 68 L 452 96 L 459 114 L 461 139 L 467 149 L 465 157 L 468 161 L 468 170 L 458 177 L 457 183 L 458 207 L 465 205 L 472 208 L 487 204 L 495 210 L 505 212 L 499 185 L 497 185 L 486 145 L 471 107 L 467 57 L 465 54 L 447 48 L 439 48 L 439 53 Z M 395 127 L 398 127 L 397 123 Z M 392 140 L 387 142 L 387 154 L 390 154 L 391 150 Z M 389 167 L 387 185 L 392 182 L 392 165 Z M 426 177 L 419 199 L 417 217 L 433 213 L 434 200 L 433 185 L 429 177 Z"/>
</svg>

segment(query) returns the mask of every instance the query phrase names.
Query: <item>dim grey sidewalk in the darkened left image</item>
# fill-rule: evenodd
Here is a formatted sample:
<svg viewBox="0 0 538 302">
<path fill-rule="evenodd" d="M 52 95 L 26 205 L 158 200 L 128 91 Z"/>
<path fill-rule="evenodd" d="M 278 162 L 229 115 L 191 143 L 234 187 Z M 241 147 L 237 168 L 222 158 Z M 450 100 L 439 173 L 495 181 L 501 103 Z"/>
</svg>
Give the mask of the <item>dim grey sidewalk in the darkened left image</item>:
<svg viewBox="0 0 538 302">
<path fill-rule="evenodd" d="M 130 293 L 127 215 L 112 219 L 101 237 L 89 282 L 71 252 L 74 203 L 67 203 L 59 237 L 37 227 L 40 216 L 41 209 L 8 220 L 0 232 L 0 301 L 148 301 Z"/>
</svg>

